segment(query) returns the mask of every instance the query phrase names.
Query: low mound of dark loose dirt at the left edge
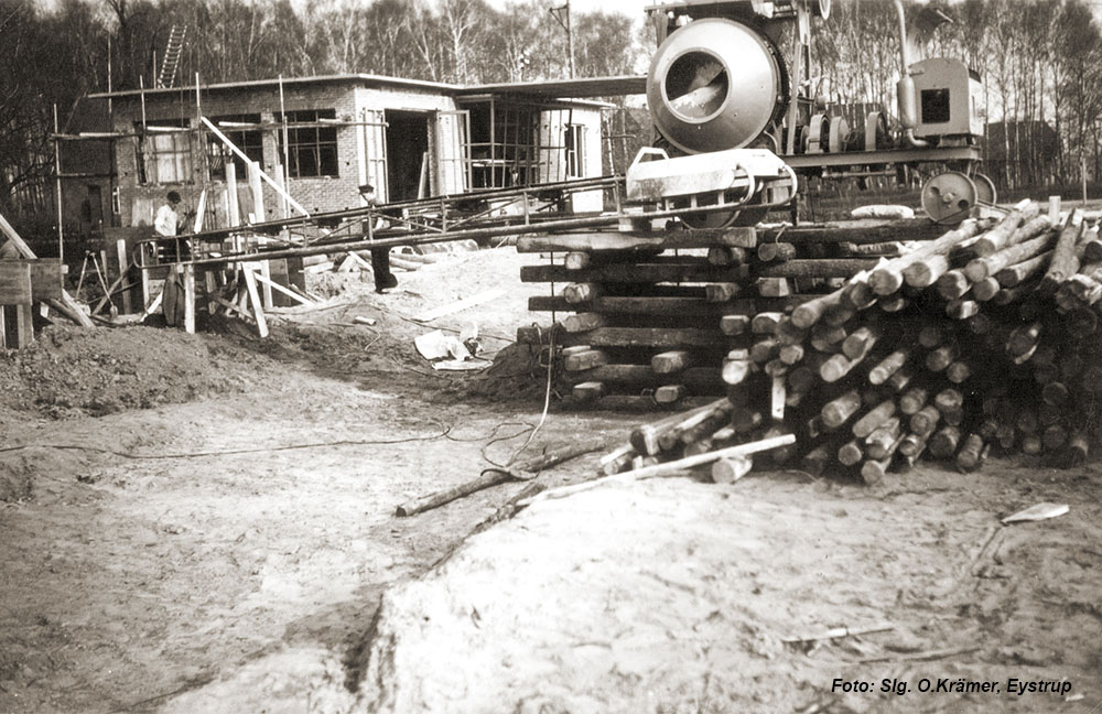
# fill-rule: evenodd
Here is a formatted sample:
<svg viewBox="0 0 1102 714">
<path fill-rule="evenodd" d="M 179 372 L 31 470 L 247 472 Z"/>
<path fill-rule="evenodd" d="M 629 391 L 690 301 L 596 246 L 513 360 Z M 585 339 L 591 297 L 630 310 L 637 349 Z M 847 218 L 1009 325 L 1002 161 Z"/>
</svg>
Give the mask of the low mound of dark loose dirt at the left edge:
<svg viewBox="0 0 1102 714">
<path fill-rule="evenodd" d="M 12 412 L 99 416 L 240 392 L 272 367 L 218 335 L 52 326 L 30 347 L 0 355 L 0 423 Z"/>
</svg>

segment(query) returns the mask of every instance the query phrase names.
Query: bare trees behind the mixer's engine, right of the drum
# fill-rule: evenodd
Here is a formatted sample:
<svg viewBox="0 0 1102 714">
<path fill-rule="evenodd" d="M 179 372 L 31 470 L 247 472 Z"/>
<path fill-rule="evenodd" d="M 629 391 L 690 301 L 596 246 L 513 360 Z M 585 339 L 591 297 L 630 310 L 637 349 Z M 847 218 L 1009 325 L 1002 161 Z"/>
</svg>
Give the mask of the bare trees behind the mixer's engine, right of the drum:
<svg viewBox="0 0 1102 714">
<path fill-rule="evenodd" d="M 918 7 L 909 8 L 914 20 Z M 986 166 L 1002 188 L 1102 180 L 1102 32 L 1084 0 L 964 0 L 929 56 L 963 60 L 986 85 Z M 827 98 L 894 107 L 897 17 L 882 0 L 835 2 L 815 36 Z"/>
</svg>

